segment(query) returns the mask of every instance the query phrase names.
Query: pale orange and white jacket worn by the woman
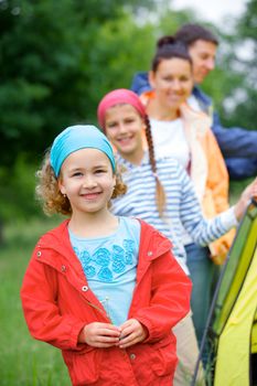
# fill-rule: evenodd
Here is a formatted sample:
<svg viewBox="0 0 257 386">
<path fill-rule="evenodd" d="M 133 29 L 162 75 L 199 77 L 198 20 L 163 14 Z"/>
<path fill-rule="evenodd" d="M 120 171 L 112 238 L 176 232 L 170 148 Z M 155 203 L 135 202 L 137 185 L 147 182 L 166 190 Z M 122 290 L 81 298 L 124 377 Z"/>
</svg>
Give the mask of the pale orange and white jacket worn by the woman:
<svg viewBox="0 0 257 386">
<path fill-rule="evenodd" d="M 154 92 L 147 92 L 140 98 L 147 105 L 152 97 Z M 210 128 L 211 118 L 202 111 L 194 111 L 185 104 L 181 106 L 180 112 L 191 151 L 190 176 L 203 213 L 211 218 L 229 207 L 229 180 L 226 164 Z M 235 229 L 232 229 L 208 245 L 215 264 L 224 261 L 234 236 Z"/>
</svg>

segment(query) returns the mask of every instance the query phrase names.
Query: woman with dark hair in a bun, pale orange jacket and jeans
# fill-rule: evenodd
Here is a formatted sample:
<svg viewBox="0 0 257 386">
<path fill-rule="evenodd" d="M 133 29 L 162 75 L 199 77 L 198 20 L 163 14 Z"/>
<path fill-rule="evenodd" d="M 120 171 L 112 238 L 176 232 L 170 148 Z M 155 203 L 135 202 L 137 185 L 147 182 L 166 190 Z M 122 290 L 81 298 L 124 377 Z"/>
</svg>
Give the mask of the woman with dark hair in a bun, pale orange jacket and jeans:
<svg viewBox="0 0 257 386">
<path fill-rule="evenodd" d="M 157 158 L 172 157 L 188 171 L 207 218 L 228 205 L 228 173 L 210 129 L 211 119 L 189 104 L 193 87 L 192 61 L 183 43 L 173 36 L 158 42 L 149 73 L 152 92 L 142 94 L 152 127 Z M 188 103 L 189 104 L 188 104 Z M 192 311 L 199 342 L 207 319 L 216 264 L 222 264 L 234 229 L 207 247 L 199 247 L 185 233 L 183 244 L 193 281 Z M 210 259 L 212 258 L 212 260 Z"/>
</svg>

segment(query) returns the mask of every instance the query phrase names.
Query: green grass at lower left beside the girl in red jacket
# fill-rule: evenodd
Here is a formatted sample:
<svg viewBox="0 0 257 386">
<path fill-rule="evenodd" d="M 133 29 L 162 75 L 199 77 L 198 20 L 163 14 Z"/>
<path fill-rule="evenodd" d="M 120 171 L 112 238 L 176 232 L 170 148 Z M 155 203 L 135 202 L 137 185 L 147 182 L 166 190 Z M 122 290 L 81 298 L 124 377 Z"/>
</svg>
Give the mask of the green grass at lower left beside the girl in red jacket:
<svg viewBox="0 0 257 386">
<path fill-rule="evenodd" d="M 55 223 L 11 224 L 0 249 L 0 385 L 71 385 L 61 352 L 31 337 L 22 313 L 20 287 L 33 247 Z"/>
</svg>

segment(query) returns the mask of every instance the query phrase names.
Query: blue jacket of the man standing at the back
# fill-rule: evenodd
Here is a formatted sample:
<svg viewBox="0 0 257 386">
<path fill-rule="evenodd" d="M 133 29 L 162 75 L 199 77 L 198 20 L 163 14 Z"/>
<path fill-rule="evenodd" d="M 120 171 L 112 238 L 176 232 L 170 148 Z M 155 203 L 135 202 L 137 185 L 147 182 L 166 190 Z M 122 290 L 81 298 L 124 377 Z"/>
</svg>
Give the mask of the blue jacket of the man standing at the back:
<svg viewBox="0 0 257 386">
<path fill-rule="evenodd" d="M 148 73 L 137 73 L 133 77 L 131 89 L 141 95 L 151 86 Z M 212 99 L 201 88 L 194 86 L 193 95 L 197 99 L 203 111 L 210 111 Z M 219 121 L 218 114 L 213 112 L 212 130 L 217 139 L 231 179 L 239 180 L 257 174 L 257 131 L 238 127 L 226 129 Z"/>
</svg>

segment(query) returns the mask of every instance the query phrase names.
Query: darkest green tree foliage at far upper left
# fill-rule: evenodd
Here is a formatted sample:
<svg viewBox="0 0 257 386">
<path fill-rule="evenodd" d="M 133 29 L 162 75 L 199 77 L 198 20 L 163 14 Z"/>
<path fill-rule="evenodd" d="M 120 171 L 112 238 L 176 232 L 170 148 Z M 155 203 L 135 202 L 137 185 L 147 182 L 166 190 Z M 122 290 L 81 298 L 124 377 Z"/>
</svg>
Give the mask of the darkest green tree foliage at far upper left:
<svg viewBox="0 0 257 386">
<path fill-rule="evenodd" d="M 79 77 L 79 36 L 72 1 L 4 1 L 0 8 L 1 156 L 33 157 L 45 148 L 53 131 L 71 122 L 76 108 L 67 97 Z M 57 15 L 57 18 L 56 18 Z M 2 23 L 3 21 L 3 23 Z M 64 88 L 65 85 L 65 88 Z"/>
</svg>

